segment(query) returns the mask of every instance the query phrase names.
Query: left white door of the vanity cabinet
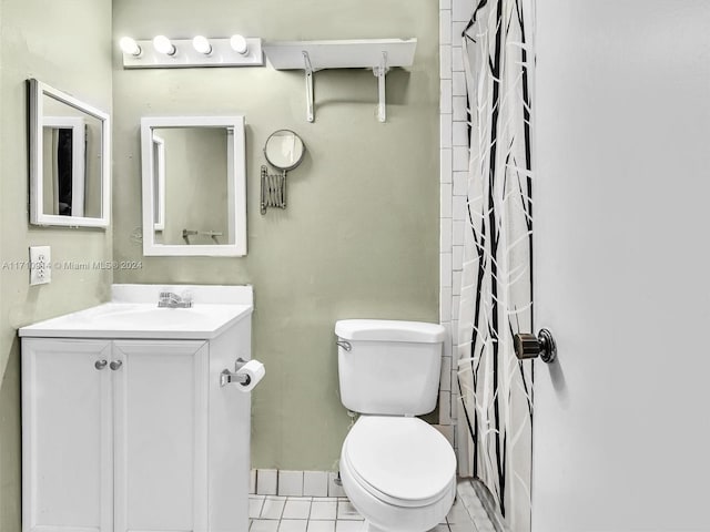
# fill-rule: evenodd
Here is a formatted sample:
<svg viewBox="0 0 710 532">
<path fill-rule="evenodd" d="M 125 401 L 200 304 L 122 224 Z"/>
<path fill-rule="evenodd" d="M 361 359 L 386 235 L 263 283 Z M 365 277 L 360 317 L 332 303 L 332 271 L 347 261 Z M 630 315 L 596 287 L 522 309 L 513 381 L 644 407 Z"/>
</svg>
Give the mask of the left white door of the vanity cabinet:
<svg viewBox="0 0 710 532">
<path fill-rule="evenodd" d="M 111 532 L 111 342 L 22 340 L 22 530 Z"/>
</svg>

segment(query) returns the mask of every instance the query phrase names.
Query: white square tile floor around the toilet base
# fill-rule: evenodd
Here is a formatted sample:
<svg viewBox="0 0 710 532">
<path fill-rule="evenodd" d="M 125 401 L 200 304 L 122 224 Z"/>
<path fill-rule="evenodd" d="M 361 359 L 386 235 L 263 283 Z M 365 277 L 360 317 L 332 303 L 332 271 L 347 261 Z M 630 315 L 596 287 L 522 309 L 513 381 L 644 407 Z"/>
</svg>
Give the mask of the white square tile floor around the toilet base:
<svg viewBox="0 0 710 532">
<path fill-rule="evenodd" d="M 362 532 L 363 516 L 345 498 L 250 495 L 250 532 Z M 430 532 L 495 532 L 468 481 Z"/>
</svg>

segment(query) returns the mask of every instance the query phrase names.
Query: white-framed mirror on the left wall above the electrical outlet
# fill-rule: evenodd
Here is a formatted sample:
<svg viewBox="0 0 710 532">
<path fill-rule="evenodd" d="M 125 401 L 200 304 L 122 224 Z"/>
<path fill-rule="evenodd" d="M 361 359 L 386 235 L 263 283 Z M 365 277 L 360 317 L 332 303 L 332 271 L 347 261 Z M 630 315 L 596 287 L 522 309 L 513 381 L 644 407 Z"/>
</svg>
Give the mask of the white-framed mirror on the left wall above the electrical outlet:
<svg viewBox="0 0 710 532">
<path fill-rule="evenodd" d="M 110 119 L 74 96 L 30 82 L 30 223 L 109 225 Z"/>
</svg>

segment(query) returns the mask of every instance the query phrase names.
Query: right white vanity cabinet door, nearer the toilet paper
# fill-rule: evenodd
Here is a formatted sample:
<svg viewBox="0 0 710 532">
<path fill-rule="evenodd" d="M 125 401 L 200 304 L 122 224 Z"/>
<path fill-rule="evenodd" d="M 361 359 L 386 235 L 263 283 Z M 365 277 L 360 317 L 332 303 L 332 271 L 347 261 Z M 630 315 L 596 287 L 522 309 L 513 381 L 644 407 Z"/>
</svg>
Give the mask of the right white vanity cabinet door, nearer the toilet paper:
<svg viewBox="0 0 710 532">
<path fill-rule="evenodd" d="M 207 530 L 205 341 L 114 340 L 115 531 Z"/>
</svg>

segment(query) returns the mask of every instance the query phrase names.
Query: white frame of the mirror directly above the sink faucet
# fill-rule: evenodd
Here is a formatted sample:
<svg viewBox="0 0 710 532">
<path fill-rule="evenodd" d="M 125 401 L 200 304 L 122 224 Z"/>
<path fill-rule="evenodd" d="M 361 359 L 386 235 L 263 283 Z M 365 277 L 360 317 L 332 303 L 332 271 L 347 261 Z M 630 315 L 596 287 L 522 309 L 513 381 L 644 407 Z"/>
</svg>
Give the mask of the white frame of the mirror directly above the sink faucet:
<svg viewBox="0 0 710 532">
<path fill-rule="evenodd" d="M 155 243 L 153 127 L 232 129 L 227 143 L 227 216 L 234 244 L 171 245 Z M 141 161 L 143 181 L 143 255 L 243 257 L 246 255 L 246 152 L 244 116 L 144 116 L 141 119 Z M 170 180 L 170 175 L 165 176 Z"/>
</svg>

